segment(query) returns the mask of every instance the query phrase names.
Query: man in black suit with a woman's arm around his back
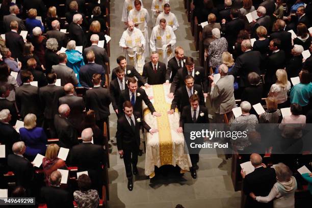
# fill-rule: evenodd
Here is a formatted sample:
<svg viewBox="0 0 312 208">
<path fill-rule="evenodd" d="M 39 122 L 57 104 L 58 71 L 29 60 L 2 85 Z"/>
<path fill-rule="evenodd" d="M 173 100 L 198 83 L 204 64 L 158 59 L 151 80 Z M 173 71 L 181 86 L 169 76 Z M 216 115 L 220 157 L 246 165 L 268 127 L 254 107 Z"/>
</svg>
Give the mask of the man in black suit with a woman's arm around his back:
<svg viewBox="0 0 312 208">
<path fill-rule="evenodd" d="M 273 168 L 266 168 L 262 163 L 262 158 L 257 153 L 250 155 L 250 162 L 255 168 L 253 172 L 246 175 L 244 169 L 241 174 L 243 179 L 243 191 L 247 196 L 245 207 L 249 208 L 266 208 L 273 207 L 273 200 L 269 203 L 261 203 L 253 200 L 249 194 L 252 192 L 255 196 L 267 196 L 269 195 L 273 185 L 276 182 L 275 170 Z"/>
</svg>

